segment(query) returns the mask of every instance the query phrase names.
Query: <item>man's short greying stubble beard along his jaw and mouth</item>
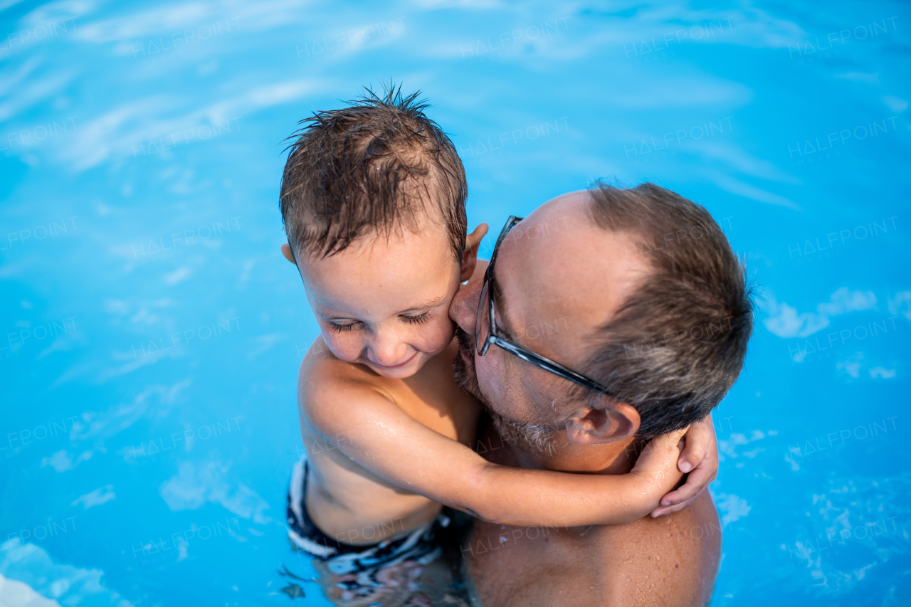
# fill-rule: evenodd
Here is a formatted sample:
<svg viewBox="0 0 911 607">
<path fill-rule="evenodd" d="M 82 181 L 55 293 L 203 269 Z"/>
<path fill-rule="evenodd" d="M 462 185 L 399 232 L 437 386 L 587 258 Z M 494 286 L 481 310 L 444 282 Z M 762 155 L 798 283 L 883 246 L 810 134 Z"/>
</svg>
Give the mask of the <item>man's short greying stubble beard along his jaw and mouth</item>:
<svg viewBox="0 0 911 607">
<path fill-rule="evenodd" d="M 523 449 L 532 455 L 548 457 L 554 454 L 557 431 L 547 424 L 531 424 L 504 417 L 491 406 L 489 399 L 481 391 L 477 381 L 475 367 L 475 345 L 460 327 L 455 327 L 455 338 L 458 340 L 459 354 L 453 361 L 455 381 L 470 396 L 474 396 L 486 409 L 487 415 L 494 422 L 500 437 L 510 445 Z M 465 352 L 467 356 L 463 356 Z M 467 361 L 466 361 L 467 358 Z"/>
</svg>

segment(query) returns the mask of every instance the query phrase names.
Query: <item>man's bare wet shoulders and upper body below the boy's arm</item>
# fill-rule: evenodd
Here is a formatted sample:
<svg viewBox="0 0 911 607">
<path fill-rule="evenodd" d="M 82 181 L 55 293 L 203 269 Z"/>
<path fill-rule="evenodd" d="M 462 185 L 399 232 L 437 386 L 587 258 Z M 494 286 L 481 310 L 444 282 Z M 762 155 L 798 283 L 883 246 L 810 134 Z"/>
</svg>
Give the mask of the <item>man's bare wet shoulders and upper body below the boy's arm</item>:
<svg viewBox="0 0 911 607">
<path fill-rule="evenodd" d="M 508 550 L 497 550 L 499 537 L 511 540 Z M 626 525 L 503 530 L 479 522 L 464 550 L 486 607 L 701 606 L 718 571 L 721 525 L 706 492 L 681 512 Z"/>
</svg>

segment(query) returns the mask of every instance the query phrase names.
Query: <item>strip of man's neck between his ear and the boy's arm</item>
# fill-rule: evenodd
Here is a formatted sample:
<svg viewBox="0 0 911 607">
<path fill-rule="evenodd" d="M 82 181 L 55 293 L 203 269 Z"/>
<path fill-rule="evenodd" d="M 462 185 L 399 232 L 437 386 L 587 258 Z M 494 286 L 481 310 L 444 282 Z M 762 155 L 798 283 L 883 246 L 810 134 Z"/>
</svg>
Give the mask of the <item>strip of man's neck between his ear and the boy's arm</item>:
<svg viewBox="0 0 911 607">
<path fill-rule="evenodd" d="M 522 468 L 545 468 L 561 472 L 590 474 L 626 474 L 636 462 L 642 445 L 635 438 L 602 445 L 577 445 L 568 441 L 565 432 L 554 438 L 553 453 L 534 454 L 510 445 Z"/>
</svg>

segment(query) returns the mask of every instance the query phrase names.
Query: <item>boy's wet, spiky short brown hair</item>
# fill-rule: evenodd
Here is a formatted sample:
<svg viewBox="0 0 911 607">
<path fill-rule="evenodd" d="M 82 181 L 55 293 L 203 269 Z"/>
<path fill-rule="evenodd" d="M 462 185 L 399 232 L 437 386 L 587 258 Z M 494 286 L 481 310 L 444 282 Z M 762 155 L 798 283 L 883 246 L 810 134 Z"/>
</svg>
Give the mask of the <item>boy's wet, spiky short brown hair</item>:
<svg viewBox="0 0 911 607">
<path fill-rule="evenodd" d="M 445 225 L 461 260 L 465 168 L 419 95 L 404 96 L 392 84 L 382 97 L 365 88 L 348 107 L 300 122 L 281 177 L 281 219 L 292 252 L 327 257 L 363 236 L 417 231 L 429 216 Z"/>
</svg>

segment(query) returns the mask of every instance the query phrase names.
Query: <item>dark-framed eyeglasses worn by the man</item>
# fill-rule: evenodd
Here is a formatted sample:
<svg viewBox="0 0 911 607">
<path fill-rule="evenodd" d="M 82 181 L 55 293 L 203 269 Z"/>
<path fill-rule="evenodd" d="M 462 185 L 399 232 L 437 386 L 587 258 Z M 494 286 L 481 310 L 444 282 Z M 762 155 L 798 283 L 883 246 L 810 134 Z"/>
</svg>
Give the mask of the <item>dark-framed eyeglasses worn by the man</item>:
<svg viewBox="0 0 911 607">
<path fill-rule="evenodd" d="M 509 217 L 507 224 L 503 226 L 503 230 L 500 231 L 500 235 L 496 238 L 494 252 L 490 255 L 490 264 L 487 266 L 486 273 L 484 273 L 484 286 L 481 287 L 481 300 L 477 304 L 477 322 L 475 324 L 477 355 L 486 355 L 490 345 L 495 344 L 503 350 L 506 350 L 509 354 L 518 356 L 527 363 L 531 363 L 554 375 L 575 382 L 579 386 L 585 386 L 591 390 L 600 392 L 601 394 L 612 396 L 607 388 L 601 386 L 595 380 L 578 374 L 559 363 L 555 363 L 547 356 L 539 355 L 521 345 L 514 344 L 503 338 L 497 332 L 496 310 L 494 309 L 494 298 L 490 294 L 490 283 L 494 279 L 494 263 L 496 263 L 496 253 L 500 250 L 500 244 L 503 243 L 503 239 L 506 238 L 507 233 L 512 230 L 519 221 L 522 221 L 521 217 L 516 217 L 515 215 Z"/>
</svg>

